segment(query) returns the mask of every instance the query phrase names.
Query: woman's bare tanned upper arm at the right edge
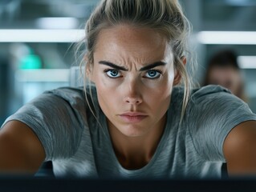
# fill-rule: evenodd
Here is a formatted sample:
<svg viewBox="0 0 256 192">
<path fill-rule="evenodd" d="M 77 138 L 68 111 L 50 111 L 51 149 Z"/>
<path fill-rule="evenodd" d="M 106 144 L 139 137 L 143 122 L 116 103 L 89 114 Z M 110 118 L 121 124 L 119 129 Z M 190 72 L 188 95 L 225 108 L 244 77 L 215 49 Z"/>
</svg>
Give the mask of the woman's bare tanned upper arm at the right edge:
<svg viewBox="0 0 256 192">
<path fill-rule="evenodd" d="M 235 126 L 224 142 L 228 174 L 256 176 L 256 121 Z"/>
</svg>

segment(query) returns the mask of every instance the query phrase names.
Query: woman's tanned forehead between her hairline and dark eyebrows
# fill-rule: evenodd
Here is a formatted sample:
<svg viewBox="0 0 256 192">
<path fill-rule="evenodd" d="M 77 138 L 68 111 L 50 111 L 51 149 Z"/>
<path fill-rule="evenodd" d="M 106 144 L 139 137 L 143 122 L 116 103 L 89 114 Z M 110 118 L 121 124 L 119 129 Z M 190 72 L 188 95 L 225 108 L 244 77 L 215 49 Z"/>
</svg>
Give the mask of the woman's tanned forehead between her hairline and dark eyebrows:
<svg viewBox="0 0 256 192">
<path fill-rule="evenodd" d="M 100 31 L 95 54 L 111 54 L 115 58 L 165 58 L 169 51 L 167 45 L 165 36 L 156 30 L 122 24 Z"/>
</svg>

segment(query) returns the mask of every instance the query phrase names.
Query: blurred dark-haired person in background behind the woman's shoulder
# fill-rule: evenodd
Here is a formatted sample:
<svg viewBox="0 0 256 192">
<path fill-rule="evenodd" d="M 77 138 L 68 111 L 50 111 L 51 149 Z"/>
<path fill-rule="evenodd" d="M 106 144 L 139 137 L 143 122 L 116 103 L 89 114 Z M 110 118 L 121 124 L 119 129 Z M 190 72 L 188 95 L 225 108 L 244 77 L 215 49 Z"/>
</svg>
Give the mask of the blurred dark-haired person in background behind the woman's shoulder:
<svg viewBox="0 0 256 192">
<path fill-rule="evenodd" d="M 213 54 L 206 66 L 202 86 L 220 85 L 229 89 L 238 98 L 247 102 L 242 72 L 234 50 L 220 50 Z"/>
</svg>

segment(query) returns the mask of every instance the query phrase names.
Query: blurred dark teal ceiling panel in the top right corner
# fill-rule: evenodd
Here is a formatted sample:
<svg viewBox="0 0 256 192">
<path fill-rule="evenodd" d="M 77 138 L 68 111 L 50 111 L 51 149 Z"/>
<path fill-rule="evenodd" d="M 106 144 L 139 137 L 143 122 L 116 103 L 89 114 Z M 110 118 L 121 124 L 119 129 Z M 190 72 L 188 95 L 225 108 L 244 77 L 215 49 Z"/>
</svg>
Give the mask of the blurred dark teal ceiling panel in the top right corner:
<svg viewBox="0 0 256 192">
<path fill-rule="evenodd" d="M 255 0 L 202 0 L 202 30 L 256 30 Z"/>
</svg>

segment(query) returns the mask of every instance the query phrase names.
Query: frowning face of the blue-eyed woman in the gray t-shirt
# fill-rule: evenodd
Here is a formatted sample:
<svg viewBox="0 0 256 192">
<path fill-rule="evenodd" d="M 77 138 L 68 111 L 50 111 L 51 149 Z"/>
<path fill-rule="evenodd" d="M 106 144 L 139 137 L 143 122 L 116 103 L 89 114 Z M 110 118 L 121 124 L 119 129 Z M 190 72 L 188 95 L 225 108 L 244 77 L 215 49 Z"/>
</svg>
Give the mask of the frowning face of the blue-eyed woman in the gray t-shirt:
<svg viewBox="0 0 256 192">
<path fill-rule="evenodd" d="M 129 25 L 101 30 L 89 73 L 109 129 L 136 137 L 164 125 L 175 76 L 164 35 Z"/>
</svg>

